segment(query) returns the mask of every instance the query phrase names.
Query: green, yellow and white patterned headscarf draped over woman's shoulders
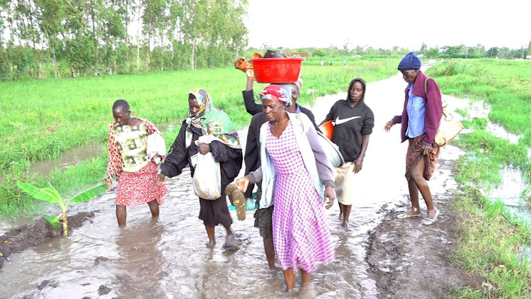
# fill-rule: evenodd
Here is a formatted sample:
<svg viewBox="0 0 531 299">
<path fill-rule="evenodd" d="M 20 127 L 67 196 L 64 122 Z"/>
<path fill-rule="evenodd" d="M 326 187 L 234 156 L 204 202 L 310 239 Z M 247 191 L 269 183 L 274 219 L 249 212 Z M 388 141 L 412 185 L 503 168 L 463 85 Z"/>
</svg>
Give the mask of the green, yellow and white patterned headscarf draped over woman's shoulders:
<svg viewBox="0 0 531 299">
<path fill-rule="evenodd" d="M 192 126 L 201 129 L 201 135 L 214 135 L 220 142 L 223 142 L 229 147 L 241 148 L 236 127 L 229 118 L 227 113 L 218 111 L 212 106 L 212 98 L 207 94 L 205 89 L 193 89 L 190 94 L 195 96 L 199 104 L 199 112 L 197 115 L 192 115 L 188 111 L 188 118 L 186 118 L 186 147 L 192 144 L 193 132 Z"/>
</svg>

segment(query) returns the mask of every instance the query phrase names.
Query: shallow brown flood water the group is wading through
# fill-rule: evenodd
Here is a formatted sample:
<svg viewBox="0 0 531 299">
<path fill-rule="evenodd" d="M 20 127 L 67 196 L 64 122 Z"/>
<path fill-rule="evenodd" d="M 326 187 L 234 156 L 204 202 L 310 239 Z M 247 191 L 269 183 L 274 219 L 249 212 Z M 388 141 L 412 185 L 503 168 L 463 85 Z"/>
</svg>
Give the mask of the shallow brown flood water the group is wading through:
<svg viewBox="0 0 531 299">
<path fill-rule="evenodd" d="M 251 211 L 244 221 L 231 211 L 239 250 L 223 251 L 222 226 L 216 227 L 217 245 L 207 249 L 198 198 L 185 169 L 166 183 L 169 195 L 156 221 L 144 205 L 128 208 L 127 227 L 118 227 L 114 193 L 73 205 L 72 215 L 93 210 L 96 216 L 68 238 L 56 237 L 13 254 L 0 269 L 4 286 L 0 298 L 378 298 L 375 281 L 367 274 L 368 235 L 384 216 L 382 207 L 393 209 L 409 202 L 404 179 L 406 144 L 400 143 L 399 126 L 389 133 L 383 130 L 387 120 L 401 113 L 405 86 L 401 75 L 367 86 L 365 103 L 376 115 L 375 129 L 357 181 L 359 196 L 353 203 L 350 231 L 339 226 L 337 205 L 326 210 L 336 259 L 312 273 L 312 294 L 299 291 L 299 277 L 295 293 L 284 292 L 282 271 L 268 269 Z M 320 98 L 312 108 L 316 122 L 344 96 Z M 246 130 L 239 134 L 245 144 Z M 440 163 L 450 163 L 459 154 L 456 147 L 445 147 Z M 435 197 L 457 187 L 449 170 L 438 171 L 430 186 Z M 38 290 L 45 280 L 50 283 Z M 99 295 L 98 289 L 105 287 L 109 293 Z"/>
</svg>

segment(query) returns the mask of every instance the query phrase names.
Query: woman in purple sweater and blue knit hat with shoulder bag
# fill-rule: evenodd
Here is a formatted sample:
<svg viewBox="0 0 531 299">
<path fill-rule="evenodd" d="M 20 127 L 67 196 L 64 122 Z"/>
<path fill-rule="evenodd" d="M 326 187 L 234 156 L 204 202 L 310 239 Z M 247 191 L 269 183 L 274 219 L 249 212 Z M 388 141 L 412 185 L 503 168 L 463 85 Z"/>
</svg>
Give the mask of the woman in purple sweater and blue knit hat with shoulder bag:
<svg viewBox="0 0 531 299">
<path fill-rule="evenodd" d="M 431 225 L 437 220 L 439 210 L 433 205 L 428 181 L 430 180 L 440 147 L 433 145 L 435 133 L 439 128 L 442 116 L 440 89 L 434 79 L 426 77 L 420 70 L 421 60 L 410 52 L 400 62 L 399 71 L 408 83 L 404 110 L 389 120 L 384 130 L 389 131 L 395 123 L 401 123 L 401 140 L 409 140 L 406 154 L 406 179 L 409 186 L 411 210 L 398 215 L 398 218 L 418 217 L 421 208 L 418 205 L 418 191 L 428 207 L 423 225 Z"/>
</svg>

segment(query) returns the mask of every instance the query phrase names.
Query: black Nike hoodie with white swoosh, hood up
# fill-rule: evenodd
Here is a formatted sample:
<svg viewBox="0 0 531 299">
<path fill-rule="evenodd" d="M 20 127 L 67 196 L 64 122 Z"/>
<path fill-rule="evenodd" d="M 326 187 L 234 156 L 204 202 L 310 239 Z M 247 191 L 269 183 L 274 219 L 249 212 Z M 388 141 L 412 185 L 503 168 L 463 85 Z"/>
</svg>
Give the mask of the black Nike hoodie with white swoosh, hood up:
<svg viewBox="0 0 531 299">
<path fill-rule="evenodd" d="M 350 88 L 355 81 L 363 84 L 363 95 L 354 107 L 350 107 Z M 326 119 L 333 120 L 332 142 L 338 145 L 345 162 L 353 162 L 360 156 L 362 135 L 370 135 L 375 126 L 375 115 L 369 106 L 365 105 L 367 84 L 361 78 L 350 81 L 347 90 L 347 99 L 339 100 L 333 104 Z"/>
</svg>

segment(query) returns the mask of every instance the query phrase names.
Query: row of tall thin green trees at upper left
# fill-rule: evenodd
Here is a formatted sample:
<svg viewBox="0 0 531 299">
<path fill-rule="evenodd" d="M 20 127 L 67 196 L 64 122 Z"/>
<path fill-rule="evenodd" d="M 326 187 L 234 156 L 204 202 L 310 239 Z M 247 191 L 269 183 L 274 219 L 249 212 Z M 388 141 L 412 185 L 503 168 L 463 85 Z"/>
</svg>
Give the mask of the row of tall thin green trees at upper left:
<svg viewBox="0 0 531 299">
<path fill-rule="evenodd" d="M 0 0 L 0 79 L 229 65 L 247 45 L 247 6 L 246 0 Z"/>
</svg>

